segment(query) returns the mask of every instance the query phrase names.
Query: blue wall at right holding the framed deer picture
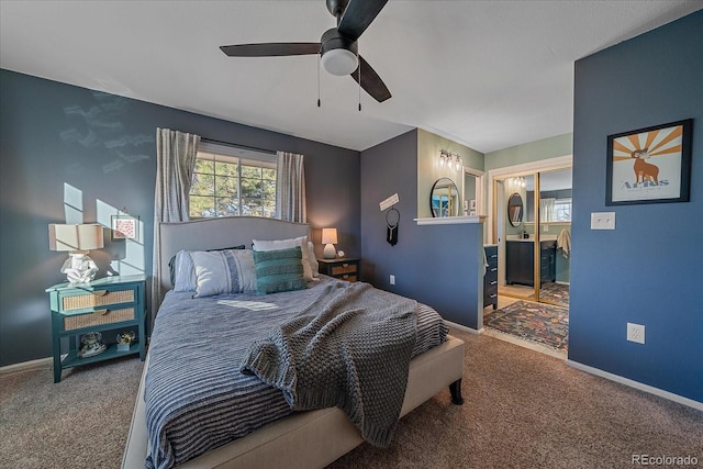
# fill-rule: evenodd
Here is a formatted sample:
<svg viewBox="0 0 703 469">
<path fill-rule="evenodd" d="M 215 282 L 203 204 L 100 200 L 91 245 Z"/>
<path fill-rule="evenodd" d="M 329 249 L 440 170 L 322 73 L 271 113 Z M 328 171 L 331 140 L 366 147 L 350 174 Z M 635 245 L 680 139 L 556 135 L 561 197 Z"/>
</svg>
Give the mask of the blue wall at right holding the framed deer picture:
<svg viewBox="0 0 703 469">
<path fill-rule="evenodd" d="M 576 63 L 569 359 L 703 402 L 703 12 Z M 605 206 L 607 135 L 694 119 L 691 201 Z M 615 231 L 590 213 L 614 211 Z M 646 344 L 625 339 L 646 326 Z"/>
</svg>

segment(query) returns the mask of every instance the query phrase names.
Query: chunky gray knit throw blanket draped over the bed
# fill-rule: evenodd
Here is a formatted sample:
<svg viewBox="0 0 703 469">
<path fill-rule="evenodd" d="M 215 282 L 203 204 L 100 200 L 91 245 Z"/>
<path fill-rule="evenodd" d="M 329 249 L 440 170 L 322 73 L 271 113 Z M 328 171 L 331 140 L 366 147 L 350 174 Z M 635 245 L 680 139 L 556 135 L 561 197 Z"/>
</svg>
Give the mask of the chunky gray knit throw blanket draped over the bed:
<svg viewBox="0 0 703 469">
<path fill-rule="evenodd" d="M 387 447 L 400 416 L 417 303 L 368 283 L 336 282 L 254 342 L 239 367 L 280 389 L 294 411 L 338 406 L 365 440 Z"/>
</svg>

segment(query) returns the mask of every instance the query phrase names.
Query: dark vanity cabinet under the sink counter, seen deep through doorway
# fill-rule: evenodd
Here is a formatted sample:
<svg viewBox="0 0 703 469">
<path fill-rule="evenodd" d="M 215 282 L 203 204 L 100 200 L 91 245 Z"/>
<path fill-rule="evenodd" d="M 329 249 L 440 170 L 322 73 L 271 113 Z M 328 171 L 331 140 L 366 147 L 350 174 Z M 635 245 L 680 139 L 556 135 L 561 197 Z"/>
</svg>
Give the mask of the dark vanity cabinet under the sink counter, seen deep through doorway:
<svg viewBox="0 0 703 469">
<path fill-rule="evenodd" d="M 505 282 L 534 287 L 535 244 L 533 241 L 507 241 L 505 243 Z M 555 241 L 539 243 L 539 281 L 553 282 L 556 279 Z"/>
</svg>

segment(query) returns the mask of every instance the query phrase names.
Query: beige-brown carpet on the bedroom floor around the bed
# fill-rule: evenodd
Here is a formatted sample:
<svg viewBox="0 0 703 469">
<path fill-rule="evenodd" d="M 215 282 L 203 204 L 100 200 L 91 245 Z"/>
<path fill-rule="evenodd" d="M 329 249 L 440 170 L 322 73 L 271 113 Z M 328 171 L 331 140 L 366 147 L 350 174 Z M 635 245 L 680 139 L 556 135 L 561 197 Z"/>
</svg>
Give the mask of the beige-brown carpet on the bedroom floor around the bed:
<svg viewBox="0 0 703 469">
<path fill-rule="evenodd" d="M 703 466 L 703 413 L 488 336 L 467 342 L 465 404 L 443 391 L 331 468 L 628 468 L 633 455 Z M 118 468 L 142 362 L 0 378 L 0 468 Z"/>
</svg>

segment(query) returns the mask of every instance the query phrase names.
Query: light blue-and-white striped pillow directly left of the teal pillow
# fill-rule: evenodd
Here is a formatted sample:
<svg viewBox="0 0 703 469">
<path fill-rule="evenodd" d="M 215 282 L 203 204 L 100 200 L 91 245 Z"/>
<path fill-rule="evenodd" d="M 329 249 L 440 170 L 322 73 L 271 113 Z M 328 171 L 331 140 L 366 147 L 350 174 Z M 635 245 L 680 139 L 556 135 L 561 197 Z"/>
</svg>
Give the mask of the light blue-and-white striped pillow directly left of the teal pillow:
<svg viewBox="0 0 703 469">
<path fill-rule="evenodd" d="M 250 249 L 190 253 L 196 276 L 194 298 L 256 291 L 256 266 Z"/>
</svg>

